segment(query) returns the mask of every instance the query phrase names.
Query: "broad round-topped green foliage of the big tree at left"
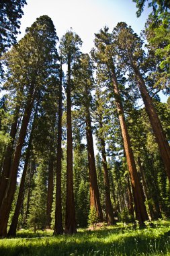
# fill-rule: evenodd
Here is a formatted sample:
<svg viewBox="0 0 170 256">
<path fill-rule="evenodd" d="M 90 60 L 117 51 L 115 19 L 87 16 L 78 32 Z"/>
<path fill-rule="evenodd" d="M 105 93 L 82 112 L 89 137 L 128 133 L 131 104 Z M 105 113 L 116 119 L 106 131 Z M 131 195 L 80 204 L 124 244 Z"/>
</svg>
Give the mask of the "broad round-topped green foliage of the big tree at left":
<svg viewBox="0 0 170 256">
<path fill-rule="evenodd" d="M 24 38 L 3 56 L 7 65 L 6 81 L 3 87 L 7 90 L 8 102 L 5 101 L 5 103 L 7 102 L 5 110 L 3 110 L 4 107 L 2 108 L 5 111 L 5 116 L 11 115 L 18 121 L 19 118 L 22 119 L 30 91 L 33 90 L 36 105 L 39 107 L 36 128 L 39 129 L 39 133 L 40 130 L 44 132 L 44 135 L 48 129 L 46 137 L 49 137 L 49 133 L 54 127 L 52 123 L 56 121 L 56 119 L 52 119 L 52 115 L 55 117 L 54 109 L 56 111 L 58 90 L 58 86 L 56 86 L 58 77 L 56 40 L 57 36 L 52 20 L 44 15 L 38 18 L 30 28 L 27 28 Z M 2 119 L 1 125 L 4 126 L 4 120 L 7 117 Z M 11 119 L 11 123 L 13 119 Z M 42 122 L 44 131 L 42 131 Z M 36 129 L 34 134 L 36 135 Z M 37 148 L 39 141 L 36 141 Z M 48 141 L 43 139 L 43 142 L 49 144 L 49 139 Z M 41 146 L 44 146 L 44 143 L 41 143 Z"/>
</svg>

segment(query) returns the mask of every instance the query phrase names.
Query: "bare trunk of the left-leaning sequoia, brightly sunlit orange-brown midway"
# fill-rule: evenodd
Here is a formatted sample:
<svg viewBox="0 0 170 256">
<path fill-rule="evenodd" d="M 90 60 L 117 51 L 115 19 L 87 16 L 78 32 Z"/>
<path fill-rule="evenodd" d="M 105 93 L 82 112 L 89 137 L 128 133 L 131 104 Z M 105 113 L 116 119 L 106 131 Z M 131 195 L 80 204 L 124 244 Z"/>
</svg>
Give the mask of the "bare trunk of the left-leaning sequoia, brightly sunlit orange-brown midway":
<svg viewBox="0 0 170 256">
<path fill-rule="evenodd" d="M 142 224 L 145 220 L 148 220 L 148 214 L 146 212 L 146 206 L 144 205 L 144 196 L 142 191 L 142 185 L 138 179 L 138 172 L 136 170 L 136 164 L 134 161 L 134 155 L 132 148 L 130 146 L 130 137 L 128 134 L 128 129 L 126 127 L 126 121 L 124 118 L 124 110 L 122 107 L 122 102 L 120 98 L 120 92 L 118 89 L 118 82 L 116 79 L 116 74 L 114 67 L 112 67 L 112 82 L 114 87 L 114 96 L 116 100 L 116 108 L 118 112 L 118 117 L 120 121 L 120 127 L 122 131 L 122 138 L 124 141 L 124 151 L 126 154 L 126 161 L 128 164 L 128 170 L 130 173 L 130 181 L 132 185 L 132 193 L 134 196 L 134 210 L 136 213 L 136 220 Z"/>
</svg>

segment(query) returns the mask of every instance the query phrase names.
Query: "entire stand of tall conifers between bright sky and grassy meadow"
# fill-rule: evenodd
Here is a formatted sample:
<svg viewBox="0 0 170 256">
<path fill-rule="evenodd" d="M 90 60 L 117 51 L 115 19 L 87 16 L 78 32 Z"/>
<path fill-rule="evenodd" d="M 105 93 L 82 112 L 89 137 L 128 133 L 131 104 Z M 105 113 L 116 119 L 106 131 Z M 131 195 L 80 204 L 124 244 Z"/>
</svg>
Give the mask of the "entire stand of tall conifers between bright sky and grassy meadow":
<svg viewBox="0 0 170 256">
<path fill-rule="evenodd" d="M 1 1 L 0 238 L 170 217 L 169 1 L 148 3 L 145 46 L 120 22 L 89 55 L 47 15 L 16 42 L 26 1 Z"/>
</svg>

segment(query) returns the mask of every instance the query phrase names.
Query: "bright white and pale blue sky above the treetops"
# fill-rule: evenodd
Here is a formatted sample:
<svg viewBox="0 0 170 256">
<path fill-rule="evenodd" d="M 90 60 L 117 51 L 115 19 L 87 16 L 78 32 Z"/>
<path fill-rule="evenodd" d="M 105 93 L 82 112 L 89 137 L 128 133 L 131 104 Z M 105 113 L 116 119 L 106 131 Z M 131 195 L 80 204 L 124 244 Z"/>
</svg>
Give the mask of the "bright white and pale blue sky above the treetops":
<svg viewBox="0 0 170 256">
<path fill-rule="evenodd" d="M 48 15 L 56 28 L 58 38 L 67 30 L 73 28 L 81 40 L 81 51 L 89 53 L 93 47 L 94 33 L 104 26 L 110 31 L 118 22 L 126 22 L 132 26 L 134 32 L 140 34 L 148 13 L 147 8 L 140 18 L 136 18 L 136 4 L 132 0 L 27 0 L 24 15 L 21 19 L 21 32 L 18 39 L 24 36 L 27 27 L 31 26 L 36 18 Z"/>
</svg>

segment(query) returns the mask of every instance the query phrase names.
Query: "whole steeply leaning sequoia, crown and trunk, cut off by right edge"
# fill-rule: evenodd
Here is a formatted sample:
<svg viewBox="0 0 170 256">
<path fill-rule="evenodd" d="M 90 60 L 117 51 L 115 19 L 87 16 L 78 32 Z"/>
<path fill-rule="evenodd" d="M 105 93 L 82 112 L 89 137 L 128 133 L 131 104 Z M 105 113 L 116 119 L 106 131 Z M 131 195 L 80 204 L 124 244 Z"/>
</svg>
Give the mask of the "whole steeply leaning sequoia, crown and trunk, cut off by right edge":
<svg viewBox="0 0 170 256">
<path fill-rule="evenodd" d="M 140 40 L 137 34 L 133 32 L 132 28 L 128 27 L 124 22 L 118 23 L 114 29 L 114 40 L 118 46 L 118 56 L 121 63 L 124 62 L 124 65 L 127 65 L 134 72 L 145 110 L 151 122 L 151 127 L 155 134 L 161 158 L 163 159 L 165 170 L 167 171 L 167 176 L 170 181 L 170 147 L 153 100 L 146 88 L 145 81 L 147 77 L 144 81 L 144 72 L 146 72 L 147 69 L 143 65 L 145 57 L 144 51 L 142 50 L 142 40 Z"/>
</svg>

